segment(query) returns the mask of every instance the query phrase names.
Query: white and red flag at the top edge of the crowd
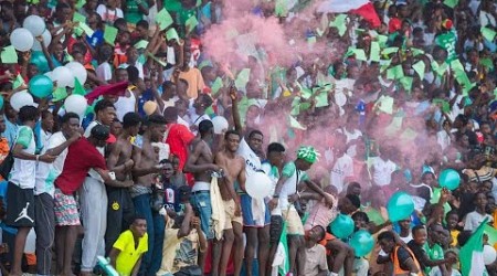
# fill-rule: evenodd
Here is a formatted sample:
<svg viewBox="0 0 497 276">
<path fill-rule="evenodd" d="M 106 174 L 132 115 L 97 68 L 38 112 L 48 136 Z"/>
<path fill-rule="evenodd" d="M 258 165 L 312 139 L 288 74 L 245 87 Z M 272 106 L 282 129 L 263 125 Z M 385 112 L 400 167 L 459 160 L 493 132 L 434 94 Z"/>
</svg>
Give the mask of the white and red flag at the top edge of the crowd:
<svg viewBox="0 0 497 276">
<path fill-rule="evenodd" d="M 317 9 L 318 12 L 341 13 L 350 12 L 361 15 L 373 28 L 381 25 L 380 18 L 371 1 L 369 0 L 326 0 L 321 2 Z"/>
</svg>

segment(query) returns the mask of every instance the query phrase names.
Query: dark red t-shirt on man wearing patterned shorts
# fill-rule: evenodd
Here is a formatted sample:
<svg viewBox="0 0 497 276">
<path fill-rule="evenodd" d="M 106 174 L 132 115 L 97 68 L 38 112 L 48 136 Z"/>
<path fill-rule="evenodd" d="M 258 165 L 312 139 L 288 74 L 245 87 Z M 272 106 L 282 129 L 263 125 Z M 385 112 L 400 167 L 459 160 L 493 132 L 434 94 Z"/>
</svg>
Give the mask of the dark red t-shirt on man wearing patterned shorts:
<svg viewBox="0 0 497 276">
<path fill-rule="evenodd" d="M 62 173 L 55 179 L 55 187 L 64 194 L 73 194 L 82 185 L 89 169 L 107 170 L 104 156 L 86 138 L 68 147 Z"/>
</svg>

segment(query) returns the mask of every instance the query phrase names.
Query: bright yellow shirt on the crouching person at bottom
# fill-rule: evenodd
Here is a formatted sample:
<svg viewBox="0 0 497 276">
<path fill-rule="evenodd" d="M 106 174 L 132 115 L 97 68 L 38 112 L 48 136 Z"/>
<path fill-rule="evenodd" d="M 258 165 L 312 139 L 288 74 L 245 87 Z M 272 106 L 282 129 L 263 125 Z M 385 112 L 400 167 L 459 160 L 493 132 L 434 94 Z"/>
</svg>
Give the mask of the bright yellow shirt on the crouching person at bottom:
<svg viewBox="0 0 497 276">
<path fill-rule="evenodd" d="M 135 248 L 135 238 L 131 231 L 128 230 L 119 235 L 119 238 L 114 243 L 114 248 L 120 251 L 116 259 L 116 270 L 121 276 L 131 275 L 133 268 L 141 254 L 148 251 L 148 235 L 145 233 L 144 237 L 138 241 L 138 247 Z"/>
</svg>

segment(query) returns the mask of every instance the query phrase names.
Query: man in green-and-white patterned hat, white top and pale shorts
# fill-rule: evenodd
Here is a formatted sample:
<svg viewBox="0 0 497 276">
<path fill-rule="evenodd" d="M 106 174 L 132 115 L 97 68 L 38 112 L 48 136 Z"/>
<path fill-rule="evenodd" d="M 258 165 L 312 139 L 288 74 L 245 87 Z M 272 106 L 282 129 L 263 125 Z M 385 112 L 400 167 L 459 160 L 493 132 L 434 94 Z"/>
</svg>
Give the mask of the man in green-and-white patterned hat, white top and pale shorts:
<svg viewBox="0 0 497 276">
<path fill-rule="evenodd" d="M 268 205 L 273 215 L 283 215 L 287 222 L 288 247 L 289 247 L 289 272 L 294 275 L 304 275 L 305 251 L 304 244 L 304 225 L 300 216 L 294 206 L 294 202 L 289 201 L 289 197 L 297 193 L 297 187 L 300 182 L 307 184 L 310 190 L 320 194 L 326 203 L 331 206 L 334 199 L 330 194 L 325 193 L 322 189 L 309 180 L 305 171 L 310 169 L 313 163 L 318 159 L 319 153 L 313 147 L 302 146 L 297 150 L 297 159 L 285 164 L 282 177 L 276 183 L 276 190 Z M 298 252 L 298 257 L 297 257 Z M 304 255 L 303 255 L 304 254 Z M 300 261 L 300 262 L 298 262 Z M 298 264 L 296 264 L 298 262 Z"/>
</svg>

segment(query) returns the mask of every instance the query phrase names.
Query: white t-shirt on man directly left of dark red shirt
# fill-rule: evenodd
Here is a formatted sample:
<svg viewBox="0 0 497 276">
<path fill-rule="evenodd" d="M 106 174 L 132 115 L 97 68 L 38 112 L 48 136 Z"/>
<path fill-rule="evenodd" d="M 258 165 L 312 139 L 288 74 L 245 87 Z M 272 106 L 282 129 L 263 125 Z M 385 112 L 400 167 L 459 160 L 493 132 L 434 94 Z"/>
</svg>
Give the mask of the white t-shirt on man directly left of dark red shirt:
<svg viewBox="0 0 497 276">
<path fill-rule="evenodd" d="M 45 153 L 49 149 L 56 148 L 66 141 L 65 136 L 59 131 L 53 134 L 49 144 L 42 150 L 42 155 Z M 55 191 L 54 182 L 55 179 L 61 174 L 62 169 L 64 168 L 65 157 L 67 156 L 67 148 L 64 149 L 61 155 L 57 156 L 53 163 L 39 162 L 36 168 L 36 183 L 34 188 L 34 195 L 39 195 L 42 193 L 47 193 L 53 198 L 53 193 Z"/>
</svg>

